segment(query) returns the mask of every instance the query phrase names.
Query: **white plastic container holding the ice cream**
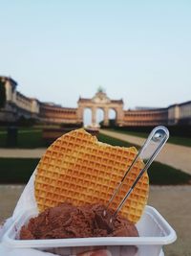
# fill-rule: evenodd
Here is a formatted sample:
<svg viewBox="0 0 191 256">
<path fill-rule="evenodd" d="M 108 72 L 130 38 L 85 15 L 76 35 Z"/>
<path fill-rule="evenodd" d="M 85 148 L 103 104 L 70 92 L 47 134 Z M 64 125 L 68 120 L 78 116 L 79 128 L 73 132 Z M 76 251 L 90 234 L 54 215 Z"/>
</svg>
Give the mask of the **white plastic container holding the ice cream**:
<svg viewBox="0 0 191 256">
<path fill-rule="evenodd" d="M 146 206 L 137 223 L 139 237 L 18 240 L 21 226 L 36 215 L 36 209 L 21 214 L 5 233 L 3 243 L 11 248 L 38 248 L 64 256 L 99 248 L 108 248 L 113 256 L 159 256 L 162 245 L 177 239 L 175 231 L 159 212 Z"/>
</svg>

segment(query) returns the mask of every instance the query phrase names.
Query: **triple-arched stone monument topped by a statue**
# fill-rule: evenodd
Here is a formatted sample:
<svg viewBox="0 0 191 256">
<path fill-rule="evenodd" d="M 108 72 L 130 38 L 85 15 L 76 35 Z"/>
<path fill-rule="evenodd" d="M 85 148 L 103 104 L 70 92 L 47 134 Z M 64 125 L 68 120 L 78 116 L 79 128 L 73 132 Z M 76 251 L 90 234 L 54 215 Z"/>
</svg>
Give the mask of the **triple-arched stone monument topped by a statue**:
<svg viewBox="0 0 191 256">
<path fill-rule="evenodd" d="M 117 126 L 123 125 L 123 101 L 111 100 L 102 88 L 98 88 L 96 95 L 92 99 L 85 99 L 79 97 L 77 102 L 77 119 L 79 123 L 83 123 L 83 113 L 86 108 L 92 110 L 92 127 L 96 127 L 96 110 L 98 108 L 103 110 L 104 118 L 103 125 L 109 126 L 109 110 L 114 109 L 116 111 L 116 124 Z"/>
</svg>

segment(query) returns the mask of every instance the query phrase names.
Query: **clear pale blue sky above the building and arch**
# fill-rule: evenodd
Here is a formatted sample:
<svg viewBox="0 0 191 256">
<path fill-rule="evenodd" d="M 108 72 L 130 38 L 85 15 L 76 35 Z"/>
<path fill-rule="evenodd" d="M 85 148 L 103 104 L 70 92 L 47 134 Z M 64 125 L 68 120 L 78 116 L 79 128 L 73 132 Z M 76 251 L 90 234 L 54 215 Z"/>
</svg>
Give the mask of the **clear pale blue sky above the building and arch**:
<svg viewBox="0 0 191 256">
<path fill-rule="evenodd" d="M 0 75 L 76 106 L 102 85 L 125 108 L 191 100 L 191 1 L 0 0 Z"/>
</svg>

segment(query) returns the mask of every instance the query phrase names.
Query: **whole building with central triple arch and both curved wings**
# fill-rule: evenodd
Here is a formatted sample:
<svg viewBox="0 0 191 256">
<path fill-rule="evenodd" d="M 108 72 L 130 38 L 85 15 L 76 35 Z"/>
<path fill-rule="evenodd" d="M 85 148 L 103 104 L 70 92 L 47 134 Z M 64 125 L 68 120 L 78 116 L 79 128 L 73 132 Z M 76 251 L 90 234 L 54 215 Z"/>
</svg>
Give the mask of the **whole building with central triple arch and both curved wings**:
<svg viewBox="0 0 191 256">
<path fill-rule="evenodd" d="M 143 108 L 125 110 L 122 99 L 111 100 L 99 89 L 92 99 L 79 98 L 77 107 L 63 107 L 42 103 L 17 91 L 17 82 L 8 77 L 0 77 L 6 89 L 6 104 L 0 109 L 0 122 L 16 122 L 21 116 L 33 118 L 44 124 L 83 124 L 86 108 L 92 111 L 92 126 L 97 126 L 96 111 L 104 113 L 103 124 L 109 125 L 109 110 L 116 112 L 116 125 L 119 127 L 177 126 L 191 125 L 191 101 L 163 108 Z"/>
</svg>

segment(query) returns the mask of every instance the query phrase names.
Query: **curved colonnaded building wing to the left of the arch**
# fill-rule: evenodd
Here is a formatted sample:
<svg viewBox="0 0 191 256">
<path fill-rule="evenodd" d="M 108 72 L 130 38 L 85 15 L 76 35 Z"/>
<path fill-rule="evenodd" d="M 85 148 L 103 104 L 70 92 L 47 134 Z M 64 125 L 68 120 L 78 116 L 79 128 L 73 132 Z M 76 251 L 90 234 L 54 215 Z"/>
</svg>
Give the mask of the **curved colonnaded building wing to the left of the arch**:
<svg viewBox="0 0 191 256">
<path fill-rule="evenodd" d="M 45 124 L 77 124 L 77 108 L 42 103 L 17 91 L 17 82 L 0 77 L 6 87 L 6 104 L 0 109 L 1 122 L 16 122 L 21 116 Z"/>
</svg>

